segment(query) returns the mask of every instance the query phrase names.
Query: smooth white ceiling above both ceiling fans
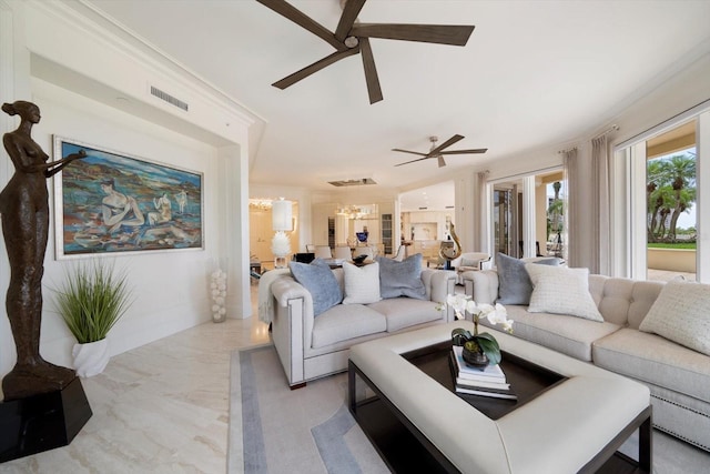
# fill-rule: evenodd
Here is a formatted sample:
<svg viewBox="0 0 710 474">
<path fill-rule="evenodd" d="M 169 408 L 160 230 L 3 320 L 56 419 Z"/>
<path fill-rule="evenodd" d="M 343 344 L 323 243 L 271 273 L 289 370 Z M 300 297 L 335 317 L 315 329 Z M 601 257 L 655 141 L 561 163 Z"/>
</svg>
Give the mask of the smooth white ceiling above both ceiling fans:
<svg viewBox="0 0 710 474">
<path fill-rule="evenodd" d="M 263 118 L 252 183 L 323 191 L 357 178 L 409 191 L 561 145 L 710 50 L 708 0 L 369 0 L 363 22 L 476 26 L 466 47 L 373 39 L 384 100 L 371 105 L 359 56 L 272 87 L 334 50 L 256 1 L 84 1 Z M 339 19 L 339 0 L 291 3 L 332 31 Z M 390 149 L 424 152 L 429 135 L 455 133 L 466 138 L 452 150 L 488 152 L 394 167 L 416 157 Z"/>
</svg>

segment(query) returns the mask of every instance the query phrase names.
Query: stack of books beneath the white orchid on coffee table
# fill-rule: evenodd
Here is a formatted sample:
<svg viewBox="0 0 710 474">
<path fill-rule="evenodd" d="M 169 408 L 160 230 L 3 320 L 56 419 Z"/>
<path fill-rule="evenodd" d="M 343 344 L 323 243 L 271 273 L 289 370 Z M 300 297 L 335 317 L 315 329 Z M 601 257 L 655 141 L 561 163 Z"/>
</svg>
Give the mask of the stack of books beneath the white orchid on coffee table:
<svg viewBox="0 0 710 474">
<path fill-rule="evenodd" d="M 516 394 L 510 391 L 510 384 L 507 383 L 500 365 L 487 365 L 484 369 L 470 367 L 464 362 L 463 350 L 464 347 L 455 345 L 450 353 L 452 373 L 457 393 L 517 400 Z"/>
</svg>

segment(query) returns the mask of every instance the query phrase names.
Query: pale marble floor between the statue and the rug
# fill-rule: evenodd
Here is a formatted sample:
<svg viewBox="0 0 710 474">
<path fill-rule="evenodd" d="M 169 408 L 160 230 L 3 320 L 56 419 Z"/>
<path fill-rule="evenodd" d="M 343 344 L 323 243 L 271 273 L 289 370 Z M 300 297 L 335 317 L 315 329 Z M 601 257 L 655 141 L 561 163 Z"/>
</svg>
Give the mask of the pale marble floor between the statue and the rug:
<svg viewBox="0 0 710 474">
<path fill-rule="evenodd" d="M 119 354 L 82 380 L 93 416 L 72 443 L 2 463 L 0 473 L 223 474 L 230 354 L 268 340 L 256 316 L 229 319 Z"/>
</svg>

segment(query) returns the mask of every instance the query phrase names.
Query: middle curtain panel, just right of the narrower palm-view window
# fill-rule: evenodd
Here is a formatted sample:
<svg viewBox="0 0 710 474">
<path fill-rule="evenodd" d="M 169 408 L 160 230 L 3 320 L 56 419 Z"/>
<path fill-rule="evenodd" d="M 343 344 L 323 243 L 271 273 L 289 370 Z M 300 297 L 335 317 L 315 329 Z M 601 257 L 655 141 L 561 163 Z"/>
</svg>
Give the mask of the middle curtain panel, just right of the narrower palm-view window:
<svg viewBox="0 0 710 474">
<path fill-rule="evenodd" d="M 562 232 L 562 258 L 567 260 L 568 266 L 579 266 L 584 259 L 580 256 L 579 244 L 579 162 L 577 149 L 565 150 L 562 152 L 562 164 L 565 168 L 565 180 L 567 181 L 567 193 L 565 203 L 565 230 Z"/>
</svg>

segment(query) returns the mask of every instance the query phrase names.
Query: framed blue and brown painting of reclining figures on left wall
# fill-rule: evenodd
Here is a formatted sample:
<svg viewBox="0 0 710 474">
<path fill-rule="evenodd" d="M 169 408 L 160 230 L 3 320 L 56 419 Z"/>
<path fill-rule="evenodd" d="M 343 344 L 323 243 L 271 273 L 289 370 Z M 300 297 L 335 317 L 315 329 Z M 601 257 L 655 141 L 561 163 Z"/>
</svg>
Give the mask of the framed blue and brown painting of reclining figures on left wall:
<svg viewBox="0 0 710 474">
<path fill-rule="evenodd" d="M 57 259 L 204 249 L 202 173 L 54 137 Z"/>
</svg>

